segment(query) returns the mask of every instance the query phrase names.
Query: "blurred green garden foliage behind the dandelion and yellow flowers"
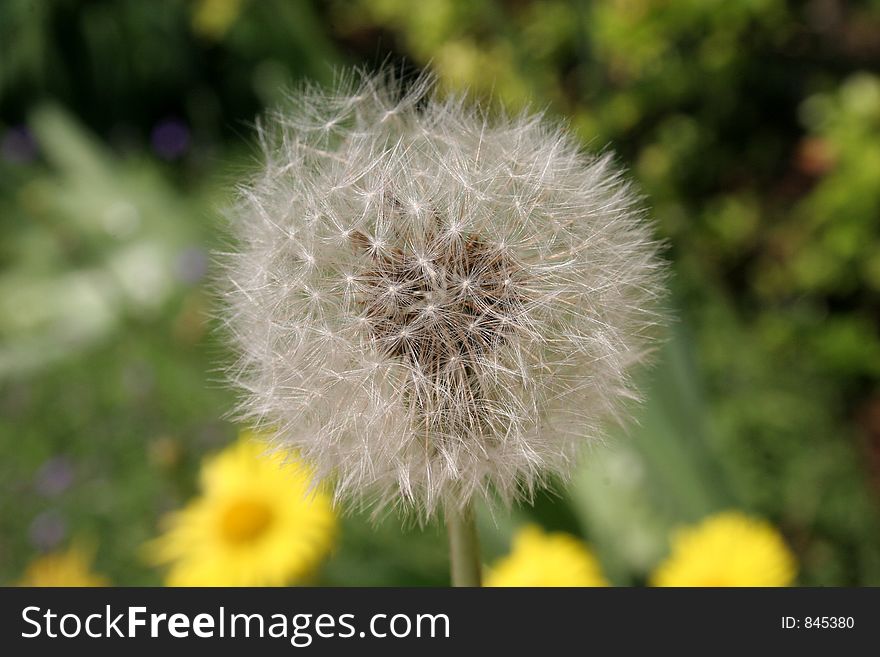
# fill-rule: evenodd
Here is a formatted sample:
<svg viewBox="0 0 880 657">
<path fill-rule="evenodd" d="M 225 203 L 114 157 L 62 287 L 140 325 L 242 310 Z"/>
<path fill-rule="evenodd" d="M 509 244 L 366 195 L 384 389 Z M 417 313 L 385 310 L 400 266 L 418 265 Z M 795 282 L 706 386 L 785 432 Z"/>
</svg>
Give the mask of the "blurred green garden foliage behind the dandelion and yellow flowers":
<svg viewBox="0 0 880 657">
<path fill-rule="evenodd" d="M 73 541 L 162 581 L 143 543 L 239 431 L 210 252 L 253 120 L 383 63 L 614 149 L 675 272 L 638 423 L 483 513 L 486 560 L 536 522 L 640 584 L 672 529 L 733 508 L 799 583 L 880 585 L 876 0 L 4 0 L 0 583 Z M 340 522 L 316 583 L 446 583 L 441 527 Z"/>
</svg>

